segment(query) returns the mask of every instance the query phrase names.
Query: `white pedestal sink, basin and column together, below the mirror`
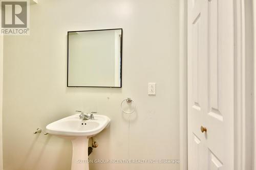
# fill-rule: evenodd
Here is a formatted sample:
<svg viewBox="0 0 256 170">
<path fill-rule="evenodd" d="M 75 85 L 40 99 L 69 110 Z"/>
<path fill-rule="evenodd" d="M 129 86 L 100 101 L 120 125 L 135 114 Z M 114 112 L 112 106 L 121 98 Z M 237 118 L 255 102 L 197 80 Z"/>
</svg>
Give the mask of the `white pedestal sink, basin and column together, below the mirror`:
<svg viewBox="0 0 256 170">
<path fill-rule="evenodd" d="M 93 120 L 83 120 L 74 114 L 53 122 L 46 127 L 46 132 L 58 137 L 71 139 L 73 156 L 71 170 L 89 170 L 88 140 L 110 124 L 110 118 L 94 115 Z"/>
</svg>

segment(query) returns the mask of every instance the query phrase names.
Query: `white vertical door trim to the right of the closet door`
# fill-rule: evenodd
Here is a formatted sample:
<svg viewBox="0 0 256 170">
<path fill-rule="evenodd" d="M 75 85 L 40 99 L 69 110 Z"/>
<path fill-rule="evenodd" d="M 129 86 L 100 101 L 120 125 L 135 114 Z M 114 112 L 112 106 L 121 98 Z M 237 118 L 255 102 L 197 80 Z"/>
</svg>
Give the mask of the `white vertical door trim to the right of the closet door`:
<svg viewBox="0 0 256 170">
<path fill-rule="evenodd" d="M 252 169 L 253 44 L 252 1 L 234 0 L 235 170 Z"/>
</svg>

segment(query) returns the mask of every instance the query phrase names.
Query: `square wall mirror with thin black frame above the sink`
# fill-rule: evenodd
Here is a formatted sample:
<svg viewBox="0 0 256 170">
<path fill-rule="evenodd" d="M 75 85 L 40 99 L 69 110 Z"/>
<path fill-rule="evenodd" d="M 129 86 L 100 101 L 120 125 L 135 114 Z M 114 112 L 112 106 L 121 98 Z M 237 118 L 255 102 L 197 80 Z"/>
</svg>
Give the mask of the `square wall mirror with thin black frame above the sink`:
<svg viewBox="0 0 256 170">
<path fill-rule="evenodd" d="M 121 87 L 122 29 L 68 32 L 68 87 Z"/>
</svg>

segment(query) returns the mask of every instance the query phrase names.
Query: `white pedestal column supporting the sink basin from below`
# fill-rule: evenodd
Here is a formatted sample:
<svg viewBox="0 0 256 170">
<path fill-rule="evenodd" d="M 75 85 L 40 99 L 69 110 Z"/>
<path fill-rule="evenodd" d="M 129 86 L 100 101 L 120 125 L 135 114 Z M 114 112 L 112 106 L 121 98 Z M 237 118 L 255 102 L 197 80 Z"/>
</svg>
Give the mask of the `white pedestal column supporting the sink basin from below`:
<svg viewBox="0 0 256 170">
<path fill-rule="evenodd" d="M 77 137 L 72 140 L 73 156 L 71 170 L 89 170 L 87 136 Z"/>
</svg>

